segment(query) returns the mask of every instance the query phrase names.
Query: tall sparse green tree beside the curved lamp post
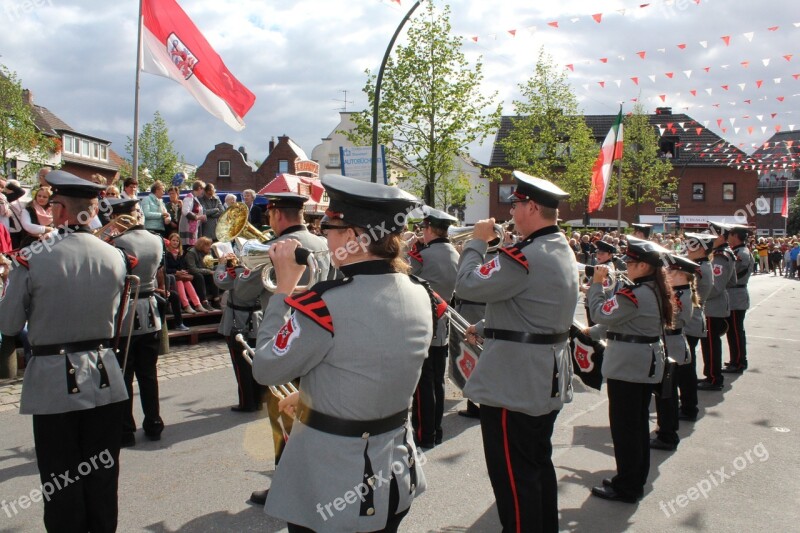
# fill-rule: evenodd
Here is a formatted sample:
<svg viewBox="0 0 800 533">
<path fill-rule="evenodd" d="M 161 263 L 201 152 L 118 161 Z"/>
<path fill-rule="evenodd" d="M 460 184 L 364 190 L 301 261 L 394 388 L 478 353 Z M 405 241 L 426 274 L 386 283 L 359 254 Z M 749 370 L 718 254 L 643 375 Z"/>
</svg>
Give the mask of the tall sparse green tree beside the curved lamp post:
<svg viewBox="0 0 800 533">
<path fill-rule="evenodd" d="M 428 205 L 446 209 L 462 205 L 468 191 L 455 158 L 497 130 L 501 107 L 485 112 L 494 107 L 496 93 L 481 94 L 483 64 L 464 58 L 462 38 L 450 31 L 450 7 L 439 12 L 428 2 L 426 10 L 411 22 L 408 44 L 394 52 L 397 59 L 386 63 L 378 138 L 387 158 L 406 169 L 409 188 Z M 376 76 L 366 73 L 369 108 L 353 115 L 352 132 L 342 132 L 359 145 L 371 144 L 372 136 Z"/>
</svg>

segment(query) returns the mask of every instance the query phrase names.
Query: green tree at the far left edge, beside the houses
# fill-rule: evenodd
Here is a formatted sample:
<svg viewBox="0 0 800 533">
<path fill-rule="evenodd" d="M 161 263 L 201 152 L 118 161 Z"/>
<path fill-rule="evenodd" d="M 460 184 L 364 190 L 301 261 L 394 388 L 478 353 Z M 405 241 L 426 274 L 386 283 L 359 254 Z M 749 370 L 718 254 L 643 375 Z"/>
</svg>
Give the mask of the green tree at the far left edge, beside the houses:
<svg viewBox="0 0 800 533">
<path fill-rule="evenodd" d="M 0 65 L 0 169 L 8 176 L 18 159 L 29 164 L 17 167 L 17 176 L 33 176 L 60 149 L 60 139 L 39 131 L 34 110 L 25 101 L 16 73 Z"/>
</svg>

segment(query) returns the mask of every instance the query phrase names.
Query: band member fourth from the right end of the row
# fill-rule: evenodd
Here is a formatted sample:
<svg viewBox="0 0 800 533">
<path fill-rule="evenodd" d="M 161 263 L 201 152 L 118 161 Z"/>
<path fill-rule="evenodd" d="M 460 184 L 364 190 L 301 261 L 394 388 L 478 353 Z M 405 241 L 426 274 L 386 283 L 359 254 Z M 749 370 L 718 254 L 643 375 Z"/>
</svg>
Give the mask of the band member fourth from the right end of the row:
<svg viewBox="0 0 800 533">
<path fill-rule="evenodd" d="M 692 320 L 695 307 L 699 307 L 694 291 L 694 275 L 700 265 L 685 257 L 669 256 L 667 281 L 672 287 L 672 306 L 675 310 L 672 329 L 664 331 L 664 348 L 667 356 L 664 382 L 656 390 L 658 428 L 650 439 L 650 448 L 674 451 L 678 448 L 678 368 L 692 364 L 692 354 L 686 343 L 685 327 Z"/>
</svg>

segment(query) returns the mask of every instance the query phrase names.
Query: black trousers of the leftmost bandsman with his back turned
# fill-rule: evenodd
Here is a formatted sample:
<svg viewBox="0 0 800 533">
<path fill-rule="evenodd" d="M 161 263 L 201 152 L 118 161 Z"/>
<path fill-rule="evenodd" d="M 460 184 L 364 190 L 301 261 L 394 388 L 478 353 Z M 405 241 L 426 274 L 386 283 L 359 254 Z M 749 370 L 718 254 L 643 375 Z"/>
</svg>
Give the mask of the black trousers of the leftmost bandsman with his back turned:
<svg viewBox="0 0 800 533">
<path fill-rule="evenodd" d="M 33 415 L 47 531 L 116 530 L 124 409 L 125 403 L 117 402 L 69 413 Z"/>
</svg>

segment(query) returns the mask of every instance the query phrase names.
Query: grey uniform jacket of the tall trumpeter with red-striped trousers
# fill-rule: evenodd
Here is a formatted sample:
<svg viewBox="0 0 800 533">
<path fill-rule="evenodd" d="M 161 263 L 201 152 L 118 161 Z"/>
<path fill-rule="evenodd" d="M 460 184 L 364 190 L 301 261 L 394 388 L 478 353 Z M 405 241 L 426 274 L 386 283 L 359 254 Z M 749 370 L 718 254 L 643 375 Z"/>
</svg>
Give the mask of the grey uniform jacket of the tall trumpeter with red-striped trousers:
<svg viewBox="0 0 800 533">
<path fill-rule="evenodd" d="M 456 282 L 460 298 L 486 302 L 479 334 L 485 328 L 536 334 L 569 331 L 578 304 L 578 279 L 575 254 L 558 227 L 534 232 L 483 263 L 486 249 L 484 241 L 467 242 Z M 486 339 L 464 395 L 475 403 L 544 415 L 571 399 L 571 368 L 566 340 L 525 344 Z"/>
</svg>

